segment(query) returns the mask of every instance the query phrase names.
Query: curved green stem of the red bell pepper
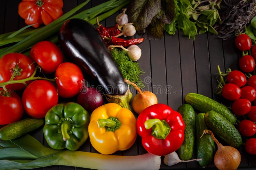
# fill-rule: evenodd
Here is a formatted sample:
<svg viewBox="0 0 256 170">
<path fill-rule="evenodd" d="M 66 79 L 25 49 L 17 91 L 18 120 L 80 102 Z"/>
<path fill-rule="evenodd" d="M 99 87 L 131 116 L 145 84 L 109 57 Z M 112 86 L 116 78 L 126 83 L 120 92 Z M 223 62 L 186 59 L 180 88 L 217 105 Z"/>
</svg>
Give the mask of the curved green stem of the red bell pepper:
<svg viewBox="0 0 256 170">
<path fill-rule="evenodd" d="M 160 119 L 148 119 L 145 121 L 144 126 L 147 130 L 152 128 L 151 134 L 157 139 L 165 139 L 171 131 L 169 124 Z"/>
</svg>

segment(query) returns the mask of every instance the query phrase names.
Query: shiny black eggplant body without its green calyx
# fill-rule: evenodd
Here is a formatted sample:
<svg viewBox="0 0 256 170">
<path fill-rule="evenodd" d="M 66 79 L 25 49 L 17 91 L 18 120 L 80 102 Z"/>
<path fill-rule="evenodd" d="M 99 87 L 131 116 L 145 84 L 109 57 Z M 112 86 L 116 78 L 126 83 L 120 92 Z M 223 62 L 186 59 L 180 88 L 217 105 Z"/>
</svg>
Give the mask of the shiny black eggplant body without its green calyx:
<svg viewBox="0 0 256 170">
<path fill-rule="evenodd" d="M 123 96 L 128 90 L 124 77 L 94 26 L 83 19 L 70 19 L 60 28 L 60 47 L 65 55 L 108 95 Z"/>
</svg>

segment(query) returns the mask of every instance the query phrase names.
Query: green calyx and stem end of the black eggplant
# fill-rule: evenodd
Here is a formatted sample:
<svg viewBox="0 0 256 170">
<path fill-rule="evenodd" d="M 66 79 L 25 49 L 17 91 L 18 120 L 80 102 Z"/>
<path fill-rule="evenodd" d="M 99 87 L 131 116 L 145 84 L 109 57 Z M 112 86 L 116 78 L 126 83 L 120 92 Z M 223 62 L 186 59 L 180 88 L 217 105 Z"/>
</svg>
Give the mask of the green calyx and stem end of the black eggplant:
<svg viewBox="0 0 256 170">
<path fill-rule="evenodd" d="M 106 94 L 106 96 L 107 96 L 106 98 L 109 103 L 116 103 L 116 104 L 119 104 L 122 108 L 131 110 L 129 103 L 132 100 L 132 93 L 131 93 L 129 87 L 123 96 L 120 96 L 120 95 L 112 96 L 112 95 L 108 95 L 108 94 Z"/>
</svg>

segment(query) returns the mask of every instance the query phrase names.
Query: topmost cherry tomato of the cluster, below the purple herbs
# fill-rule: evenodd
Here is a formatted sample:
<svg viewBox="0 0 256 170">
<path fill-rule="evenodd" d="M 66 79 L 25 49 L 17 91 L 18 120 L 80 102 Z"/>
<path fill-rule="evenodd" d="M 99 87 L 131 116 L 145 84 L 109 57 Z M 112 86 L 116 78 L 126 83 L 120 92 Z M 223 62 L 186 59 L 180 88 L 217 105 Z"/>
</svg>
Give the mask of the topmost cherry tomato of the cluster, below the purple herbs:
<svg viewBox="0 0 256 170">
<path fill-rule="evenodd" d="M 236 47 L 241 51 L 250 50 L 252 47 L 252 40 L 246 34 L 240 34 L 235 39 Z"/>
</svg>

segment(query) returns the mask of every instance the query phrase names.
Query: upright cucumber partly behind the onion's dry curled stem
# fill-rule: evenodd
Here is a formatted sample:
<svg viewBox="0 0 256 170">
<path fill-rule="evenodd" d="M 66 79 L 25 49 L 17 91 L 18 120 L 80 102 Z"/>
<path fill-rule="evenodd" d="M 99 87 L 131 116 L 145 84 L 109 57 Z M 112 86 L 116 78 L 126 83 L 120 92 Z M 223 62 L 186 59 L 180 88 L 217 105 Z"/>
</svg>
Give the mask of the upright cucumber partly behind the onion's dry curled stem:
<svg viewBox="0 0 256 170">
<path fill-rule="evenodd" d="M 208 166 L 213 158 L 216 151 L 215 143 L 212 140 L 210 134 L 203 134 L 205 129 L 208 129 L 204 122 L 204 113 L 199 113 L 196 115 L 196 158 L 202 159 L 198 161 L 199 165 L 202 167 Z M 200 138 L 202 136 L 202 138 Z"/>
</svg>

